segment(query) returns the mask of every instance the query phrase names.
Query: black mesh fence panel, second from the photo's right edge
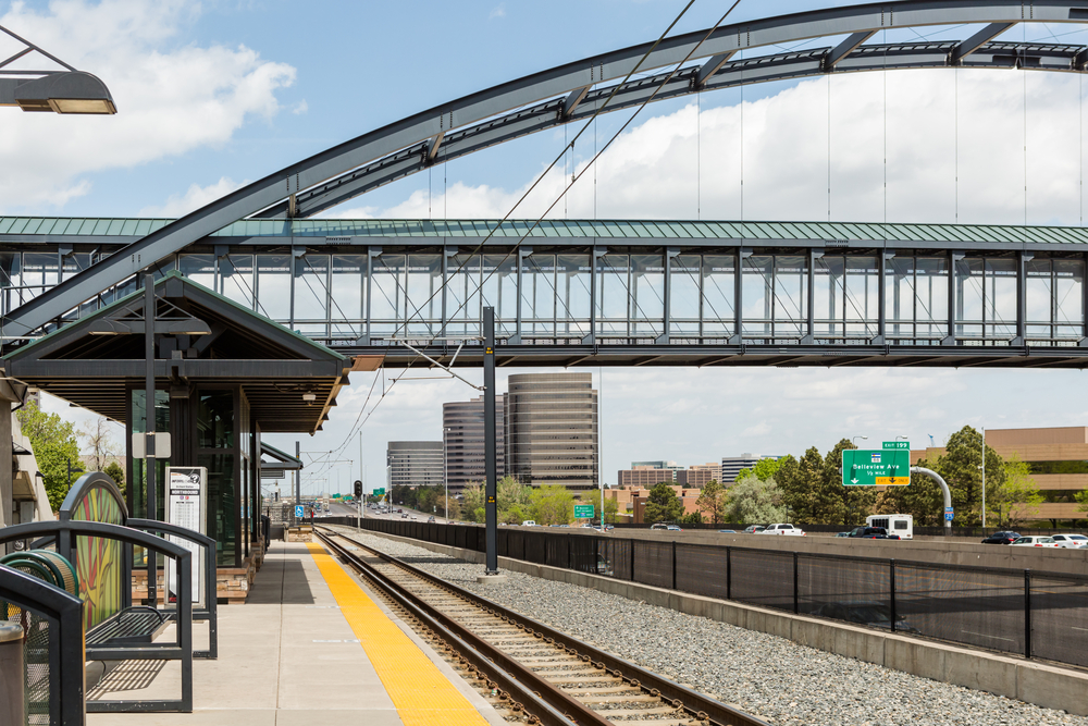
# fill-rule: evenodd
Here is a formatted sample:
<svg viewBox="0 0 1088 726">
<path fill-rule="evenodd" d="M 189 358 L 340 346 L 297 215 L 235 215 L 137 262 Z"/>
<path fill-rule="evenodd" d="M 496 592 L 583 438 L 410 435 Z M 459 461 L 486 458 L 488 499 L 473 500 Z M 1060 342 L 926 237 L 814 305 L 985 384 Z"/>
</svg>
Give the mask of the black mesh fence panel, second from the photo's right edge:
<svg viewBox="0 0 1088 726">
<path fill-rule="evenodd" d="M 1024 576 L 1015 570 L 897 562 L 895 611 L 930 638 L 1024 652 Z"/>
</svg>

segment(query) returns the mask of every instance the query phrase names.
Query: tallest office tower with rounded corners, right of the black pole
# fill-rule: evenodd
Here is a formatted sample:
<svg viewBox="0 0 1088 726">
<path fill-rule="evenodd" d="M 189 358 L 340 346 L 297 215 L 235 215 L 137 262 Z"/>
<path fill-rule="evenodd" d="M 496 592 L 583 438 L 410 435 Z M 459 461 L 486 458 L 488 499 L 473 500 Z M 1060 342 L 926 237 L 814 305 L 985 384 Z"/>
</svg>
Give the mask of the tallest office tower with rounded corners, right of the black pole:
<svg viewBox="0 0 1088 726">
<path fill-rule="evenodd" d="M 590 373 L 510 376 L 504 403 L 509 476 L 534 487 L 597 485 L 597 392 Z"/>
</svg>

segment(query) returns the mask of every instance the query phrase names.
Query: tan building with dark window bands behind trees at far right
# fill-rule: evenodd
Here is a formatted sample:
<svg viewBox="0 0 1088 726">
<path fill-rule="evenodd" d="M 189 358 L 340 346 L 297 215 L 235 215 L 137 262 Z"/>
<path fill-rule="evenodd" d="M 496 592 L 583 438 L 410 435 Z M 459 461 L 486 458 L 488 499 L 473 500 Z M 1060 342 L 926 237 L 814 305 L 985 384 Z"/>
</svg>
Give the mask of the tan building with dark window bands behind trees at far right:
<svg viewBox="0 0 1088 726">
<path fill-rule="evenodd" d="M 1028 465 L 1044 497 L 1030 519 L 1049 519 L 1053 524 L 1088 518 L 1088 513 L 1080 512 L 1080 505 L 1073 499 L 1088 489 L 1088 427 L 987 429 L 986 445 L 1004 459 L 1015 456 Z M 943 454 L 943 447 L 912 451 L 911 460 L 936 459 Z"/>
</svg>

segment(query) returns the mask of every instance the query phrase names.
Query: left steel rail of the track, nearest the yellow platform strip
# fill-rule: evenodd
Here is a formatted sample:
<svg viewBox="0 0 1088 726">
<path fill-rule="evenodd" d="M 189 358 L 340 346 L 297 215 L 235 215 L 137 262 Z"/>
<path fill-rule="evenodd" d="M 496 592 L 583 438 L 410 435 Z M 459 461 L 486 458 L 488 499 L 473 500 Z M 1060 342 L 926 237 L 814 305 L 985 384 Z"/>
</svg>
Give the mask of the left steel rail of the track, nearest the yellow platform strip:
<svg viewBox="0 0 1088 726">
<path fill-rule="evenodd" d="M 361 557 L 353 554 L 346 547 L 334 542 L 332 537 L 320 531 L 322 529 L 326 528 L 320 526 L 313 528 L 322 542 L 361 570 L 390 599 L 411 613 L 413 617 L 425 623 L 426 627 L 455 648 L 466 661 L 469 661 L 478 670 L 485 673 L 493 682 L 502 686 L 508 696 L 519 698 L 520 700 L 515 699 L 515 705 L 528 710 L 530 706 L 527 704 L 533 704 L 532 707 L 539 712 L 532 712 L 532 715 L 540 718 L 545 726 L 570 726 L 571 722 L 594 726 L 611 726 L 610 722 L 598 716 L 595 711 L 570 698 L 419 595 L 379 573 Z M 338 532 L 332 533 L 338 536 Z M 370 551 L 369 547 L 367 550 Z"/>
</svg>

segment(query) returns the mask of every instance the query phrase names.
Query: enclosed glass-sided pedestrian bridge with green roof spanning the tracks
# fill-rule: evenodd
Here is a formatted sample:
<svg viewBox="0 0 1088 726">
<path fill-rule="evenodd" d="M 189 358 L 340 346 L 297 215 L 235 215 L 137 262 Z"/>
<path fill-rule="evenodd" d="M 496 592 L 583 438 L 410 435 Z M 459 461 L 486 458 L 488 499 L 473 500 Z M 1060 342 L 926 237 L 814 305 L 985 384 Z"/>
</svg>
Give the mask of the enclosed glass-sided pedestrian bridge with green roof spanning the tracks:
<svg viewBox="0 0 1088 726">
<path fill-rule="evenodd" d="M 0 218 L 3 313 L 169 223 Z M 479 365 L 491 306 L 507 366 L 1081 368 L 1086 254 L 1078 227 L 245 220 L 156 271 L 373 365 Z"/>
</svg>

